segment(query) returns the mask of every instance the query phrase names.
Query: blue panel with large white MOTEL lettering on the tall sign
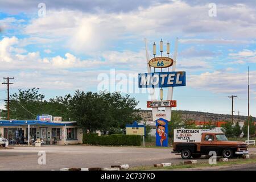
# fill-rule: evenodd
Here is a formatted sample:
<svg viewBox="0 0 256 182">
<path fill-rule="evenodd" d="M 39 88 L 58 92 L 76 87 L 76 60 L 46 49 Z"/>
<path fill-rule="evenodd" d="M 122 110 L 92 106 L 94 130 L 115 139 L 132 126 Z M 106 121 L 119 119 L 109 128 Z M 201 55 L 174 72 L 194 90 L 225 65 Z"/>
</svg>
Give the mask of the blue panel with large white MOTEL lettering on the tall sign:
<svg viewBox="0 0 256 182">
<path fill-rule="evenodd" d="M 185 85 L 185 72 L 140 73 L 138 76 L 139 88 L 164 88 Z"/>
</svg>

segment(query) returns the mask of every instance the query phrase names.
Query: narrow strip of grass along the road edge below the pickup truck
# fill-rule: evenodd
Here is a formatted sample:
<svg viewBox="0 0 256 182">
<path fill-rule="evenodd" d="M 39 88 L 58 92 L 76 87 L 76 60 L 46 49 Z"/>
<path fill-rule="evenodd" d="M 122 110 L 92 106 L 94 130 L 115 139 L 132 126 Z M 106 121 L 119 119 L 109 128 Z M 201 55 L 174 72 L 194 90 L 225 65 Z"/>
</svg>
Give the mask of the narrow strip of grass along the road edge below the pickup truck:
<svg viewBox="0 0 256 182">
<path fill-rule="evenodd" d="M 185 160 L 184 160 L 185 161 Z M 214 167 L 214 166 L 230 166 L 232 164 L 251 164 L 256 163 L 256 156 L 250 155 L 250 159 L 230 159 L 228 162 L 217 162 L 216 165 L 210 165 L 207 162 L 197 163 L 197 164 L 175 164 L 170 167 L 153 167 L 153 166 L 141 166 L 141 167 L 132 167 L 129 170 L 134 171 L 143 171 L 143 170 L 170 170 L 170 169 L 185 169 L 185 168 L 199 168 L 199 167 Z"/>
</svg>

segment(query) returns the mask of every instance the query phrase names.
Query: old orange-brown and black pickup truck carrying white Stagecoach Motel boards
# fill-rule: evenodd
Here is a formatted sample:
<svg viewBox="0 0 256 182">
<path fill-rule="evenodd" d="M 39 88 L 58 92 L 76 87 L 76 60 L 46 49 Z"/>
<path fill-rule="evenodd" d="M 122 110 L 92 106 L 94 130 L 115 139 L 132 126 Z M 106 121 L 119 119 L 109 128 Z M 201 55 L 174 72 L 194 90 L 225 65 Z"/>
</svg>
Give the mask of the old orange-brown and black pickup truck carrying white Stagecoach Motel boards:
<svg viewBox="0 0 256 182">
<path fill-rule="evenodd" d="M 185 134 L 185 131 L 181 135 L 181 132 L 177 131 L 176 137 L 183 140 L 175 141 L 173 144 L 172 153 L 180 153 L 181 158 L 190 159 L 200 158 L 201 155 L 209 155 L 210 151 L 215 151 L 217 156 L 223 156 L 224 158 L 233 158 L 234 156 L 248 154 L 248 146 L 245 142 L 228 141 L 224 133 L 200 133 L 201 141 L 191 140 L 193 134 Z M 189 138 L 190 136 L 190 138 Z M 174 136 L 175 137 L 175 136 Z M 198 138 L 198 137 L 197 137 Z M 187 140 L 184 140 L 187 139 Z M 185 142 L 184 142 L 185 141 Z"/>
</svg>

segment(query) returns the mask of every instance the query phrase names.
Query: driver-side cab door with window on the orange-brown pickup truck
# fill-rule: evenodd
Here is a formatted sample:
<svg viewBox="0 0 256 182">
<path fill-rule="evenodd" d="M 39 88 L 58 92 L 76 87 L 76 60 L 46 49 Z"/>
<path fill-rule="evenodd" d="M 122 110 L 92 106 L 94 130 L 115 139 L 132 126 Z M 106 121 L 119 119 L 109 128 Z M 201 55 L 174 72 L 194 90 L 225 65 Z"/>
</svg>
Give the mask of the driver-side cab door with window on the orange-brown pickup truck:
<svg viewBox="0 0 256 182">
<path fill-rule="evenodd" d="M 201 142 L 201 153 L 208 155 L 210 151 L 216 150 L 216 140 L 212 134 L 206 134 Z"/>
</svg>

